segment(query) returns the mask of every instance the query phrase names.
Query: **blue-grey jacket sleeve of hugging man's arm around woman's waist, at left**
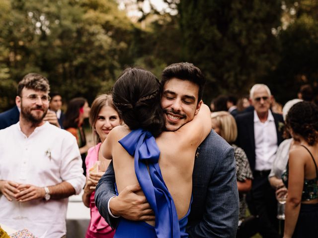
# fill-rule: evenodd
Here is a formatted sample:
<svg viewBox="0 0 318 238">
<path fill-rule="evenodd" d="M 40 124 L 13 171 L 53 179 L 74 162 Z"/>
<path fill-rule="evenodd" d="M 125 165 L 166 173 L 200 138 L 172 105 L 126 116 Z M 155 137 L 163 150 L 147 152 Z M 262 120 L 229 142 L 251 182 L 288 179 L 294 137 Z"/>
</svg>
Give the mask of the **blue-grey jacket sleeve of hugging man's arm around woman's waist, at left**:
<svg viewBox="0 0 318 238">
<path fill-rule="evenodd" d="M 111 161 L 105 174 L 99 179 L 95 189 L 95 205 L 100 215 L 105 219 L 112 229 L 118 225 L 119 218 L 113 218 L 108 213 L 108 201 L 116 196 L 115 191 L 115 172 L 113 162 Z"/>
</svg>

